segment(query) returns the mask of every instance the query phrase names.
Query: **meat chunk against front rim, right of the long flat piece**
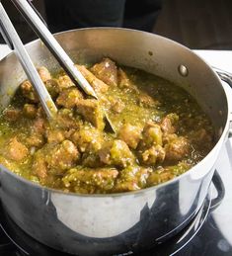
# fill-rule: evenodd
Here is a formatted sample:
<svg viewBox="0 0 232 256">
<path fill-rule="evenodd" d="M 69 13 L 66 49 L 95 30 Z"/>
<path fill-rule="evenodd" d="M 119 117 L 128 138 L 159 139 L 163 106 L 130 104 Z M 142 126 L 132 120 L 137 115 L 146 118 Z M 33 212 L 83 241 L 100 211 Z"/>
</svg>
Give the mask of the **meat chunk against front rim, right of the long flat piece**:
<svg viewBox="0 0 232 256">
<path fill-rule="evenodd" d="M 151 172 L 151 168 L 128 166 L 120 171 L 114 192 L 135 191 L 144 188 Z"/>
</svg>

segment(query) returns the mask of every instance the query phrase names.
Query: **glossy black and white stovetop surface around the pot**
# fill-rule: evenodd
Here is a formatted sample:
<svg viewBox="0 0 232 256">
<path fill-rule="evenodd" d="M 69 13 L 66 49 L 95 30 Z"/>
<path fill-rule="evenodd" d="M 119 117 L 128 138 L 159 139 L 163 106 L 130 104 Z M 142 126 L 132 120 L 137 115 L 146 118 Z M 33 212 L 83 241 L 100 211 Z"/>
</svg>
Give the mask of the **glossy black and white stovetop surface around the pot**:
<svg viewBox="0 0 232 256">
<path fill-rule="evenodd" d="M 8 53 L 0 45 L 0 58 Z M 232 72 L 232 51 L 196 51 L 210 64 Z M 226 54 L 226 58 L 223 57 Z M 228 54 L 231 56 L 228 57 Z M 232 90 L 223 83 L 232 103 Z M 232 106 L 231 106 L 232 107 Z M 232 110 L 232 108 L 231 108 Z M 152 255 L 232 255 L 232 139 L 223 146 L 207 197 L 193 220 L 174 237 L 157 244 L 152 250 L 139 253 Z M 1 256 L 67 256 L 49 248 L 25 233 L 0 204 Z M 128 255 L 128 253 L 126 254 Z M 135 254 L 132 254 L 135 255 Z M 125 256 L 121 254 L 120 256 Z"/>
</svg>

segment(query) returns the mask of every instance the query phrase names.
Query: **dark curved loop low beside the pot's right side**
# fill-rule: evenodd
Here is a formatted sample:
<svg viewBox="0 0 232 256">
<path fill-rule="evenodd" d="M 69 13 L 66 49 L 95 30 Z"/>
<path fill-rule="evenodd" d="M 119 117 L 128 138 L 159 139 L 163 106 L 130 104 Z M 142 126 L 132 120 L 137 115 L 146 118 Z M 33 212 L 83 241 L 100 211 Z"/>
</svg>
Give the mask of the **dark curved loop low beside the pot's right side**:
<svg viewBox="0 0 232 256">
<path fill-rule="evenodd" d="M 212 177 L 212 183 L 217 191 L 217 197 L 211 200 L 211 212 L 219 207 L 225 196 L 225 187 L 217 170 L 215 170 L 214 175 Z"/>
</svg>

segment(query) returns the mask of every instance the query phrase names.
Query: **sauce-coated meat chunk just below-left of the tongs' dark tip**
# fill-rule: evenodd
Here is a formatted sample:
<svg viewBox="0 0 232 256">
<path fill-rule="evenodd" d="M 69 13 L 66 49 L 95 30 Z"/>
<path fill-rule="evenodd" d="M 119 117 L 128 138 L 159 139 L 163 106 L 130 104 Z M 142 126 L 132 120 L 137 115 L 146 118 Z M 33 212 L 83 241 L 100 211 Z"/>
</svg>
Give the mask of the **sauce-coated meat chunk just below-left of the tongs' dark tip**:
<svg viewBox="0 0 232 256">
<path fill-rule="evenodd" d="M 103 135 L 97 128 L 86 128 L 75 131 L 71 140 L 80 152 L 96 152 L 102 147 Z"/>
</svg>

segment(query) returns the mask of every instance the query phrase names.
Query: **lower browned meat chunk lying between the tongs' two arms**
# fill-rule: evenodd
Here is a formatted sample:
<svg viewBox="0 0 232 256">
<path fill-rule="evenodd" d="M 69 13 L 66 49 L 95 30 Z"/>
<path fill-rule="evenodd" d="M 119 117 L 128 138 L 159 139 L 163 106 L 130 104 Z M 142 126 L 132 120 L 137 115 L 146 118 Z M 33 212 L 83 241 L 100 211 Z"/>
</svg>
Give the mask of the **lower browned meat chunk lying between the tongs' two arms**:
<svg viewBox="0 0 232 256">
<path fill-rule="evenodd" d="M 59 94 L 56 104 L 66 109 L 71 109 L 80 99 L 83 99 L 82 93 L 76 87 L 69 87 Z"/>
</svg>

